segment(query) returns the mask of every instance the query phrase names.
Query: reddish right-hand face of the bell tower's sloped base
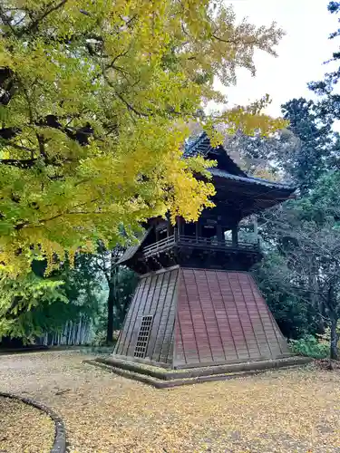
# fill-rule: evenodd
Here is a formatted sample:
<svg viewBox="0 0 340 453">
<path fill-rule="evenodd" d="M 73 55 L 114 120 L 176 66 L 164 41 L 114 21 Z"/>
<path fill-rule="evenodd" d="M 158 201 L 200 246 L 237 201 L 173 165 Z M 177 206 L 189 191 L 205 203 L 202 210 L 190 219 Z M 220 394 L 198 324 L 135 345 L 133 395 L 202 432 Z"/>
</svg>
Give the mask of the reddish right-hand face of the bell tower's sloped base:
<svg viewBox="0 0 340 453">
<path fill-rule="evenodd" d="M 176 367 L 277 359 L 287 342 L 248 273 L 182 269 Z"/>
</svg>

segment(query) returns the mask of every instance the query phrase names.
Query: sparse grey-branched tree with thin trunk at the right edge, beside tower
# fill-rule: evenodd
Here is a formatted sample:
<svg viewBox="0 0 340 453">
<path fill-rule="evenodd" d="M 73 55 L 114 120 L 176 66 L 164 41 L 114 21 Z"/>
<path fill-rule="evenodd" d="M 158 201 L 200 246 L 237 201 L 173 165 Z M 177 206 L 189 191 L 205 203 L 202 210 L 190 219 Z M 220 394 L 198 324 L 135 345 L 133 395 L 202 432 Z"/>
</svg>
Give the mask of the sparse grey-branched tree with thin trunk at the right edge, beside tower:
<svg viewBox="0 0 340 453">
<path fill-rule="evenodd" d="M 337 359 L 340 317 L 339 183 L 338 171 L 320 178 L 305 197 L 270 211 L 266 226 L 280 264 L 266 279 L 295 296 L 299 307 L 305 305 L 302 313 L 307 310 L 315 320 L 316 332 L 330 327 L 332 359 Z"/>
</svg>

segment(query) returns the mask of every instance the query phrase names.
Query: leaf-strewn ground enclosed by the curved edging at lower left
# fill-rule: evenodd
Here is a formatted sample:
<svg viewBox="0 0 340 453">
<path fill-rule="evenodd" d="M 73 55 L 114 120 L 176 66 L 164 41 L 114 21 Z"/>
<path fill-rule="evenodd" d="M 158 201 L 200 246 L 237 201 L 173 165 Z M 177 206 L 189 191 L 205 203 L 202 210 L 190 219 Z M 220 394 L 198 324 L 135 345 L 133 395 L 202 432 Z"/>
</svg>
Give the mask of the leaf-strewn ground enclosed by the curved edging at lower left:
<svg viewBox="0 0 340 453">
<path fill-rule="evenodd" d="M 0 396 L 0 451 L 42 453 L 53 446 L 54 424 L 43 411 Z"/>
</svg>

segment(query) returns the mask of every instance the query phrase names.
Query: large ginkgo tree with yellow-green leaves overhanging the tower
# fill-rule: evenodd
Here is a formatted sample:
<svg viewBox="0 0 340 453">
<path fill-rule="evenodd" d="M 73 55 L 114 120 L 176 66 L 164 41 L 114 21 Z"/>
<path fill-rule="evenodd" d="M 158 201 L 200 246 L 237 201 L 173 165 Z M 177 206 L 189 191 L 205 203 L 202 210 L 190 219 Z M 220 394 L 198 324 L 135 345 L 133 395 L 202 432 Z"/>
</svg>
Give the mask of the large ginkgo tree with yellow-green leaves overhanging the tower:
<svg viewBox="0 0 340 453">
<path fill-rule="evenodd" d="M 214 89 L 255 72 L 282 31 L 236 21 L 215 0 L 2 0 L 0 262 L 116 243 L 148 217 L 211 206 L 211 164 L 181 159 L 189 120 L 266 134 L 266 101 L 201 116 Z"/>
</svg>

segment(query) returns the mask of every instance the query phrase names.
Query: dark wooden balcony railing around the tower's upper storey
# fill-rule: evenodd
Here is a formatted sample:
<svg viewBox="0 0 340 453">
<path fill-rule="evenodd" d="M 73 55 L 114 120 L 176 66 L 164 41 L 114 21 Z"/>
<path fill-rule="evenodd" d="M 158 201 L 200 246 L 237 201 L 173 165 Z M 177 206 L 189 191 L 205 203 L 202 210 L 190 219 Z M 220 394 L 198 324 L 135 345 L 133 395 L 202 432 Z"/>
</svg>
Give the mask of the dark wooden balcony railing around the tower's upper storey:
<svg viewBox="0 0 340 453">
<path fill-rule="evenodd" d="M 219 241 L 216 238 L 202 237 L 202 236 L 186 236 L 175 234 L 165 239 L 152 244 L 151 246 L 146 246 L 142 249 L 144 256 L 155 255 L 165 250 L 169 250 L 172 246 L 191 246 L 195 248 L 206 248 L 206 249 L 219 249 L 219 250 L 235 250 L 235 251 L 248 251 L 248 252 L 258 252 L 258 244 L 248 243 L 248 242 L 238 242 L 234 244 L 232 241 L 224 240 Z"/>
</svg>

